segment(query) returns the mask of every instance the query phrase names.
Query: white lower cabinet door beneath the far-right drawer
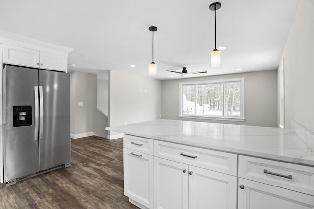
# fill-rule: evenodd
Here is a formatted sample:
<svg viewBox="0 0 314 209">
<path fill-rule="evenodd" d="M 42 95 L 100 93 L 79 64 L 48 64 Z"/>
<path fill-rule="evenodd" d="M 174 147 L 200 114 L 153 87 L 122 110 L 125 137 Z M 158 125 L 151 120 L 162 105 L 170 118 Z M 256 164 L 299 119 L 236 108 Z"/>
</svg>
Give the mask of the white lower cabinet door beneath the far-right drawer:
<svg viewBox="0 0 314 209">
<path fill-rule="evenodd" d="M 314 196 L 239 178 L 238 209 L 314 209 Z"/>
</svg>

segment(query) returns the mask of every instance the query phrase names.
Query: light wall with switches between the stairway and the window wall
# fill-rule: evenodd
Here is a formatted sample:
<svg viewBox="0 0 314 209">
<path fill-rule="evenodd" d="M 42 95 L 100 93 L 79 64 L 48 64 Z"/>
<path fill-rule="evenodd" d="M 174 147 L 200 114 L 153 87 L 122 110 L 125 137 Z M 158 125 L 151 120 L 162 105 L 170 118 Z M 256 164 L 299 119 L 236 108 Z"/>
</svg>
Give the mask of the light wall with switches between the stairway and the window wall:
<svg viewBox="0 0 314 209">
<path fill-rule="evenodd" d="M 160 119 L 160 80 L 110 70 L 109 89 L 109 126 Z M 108 139 L 117 134 L 109 132 Z"/>
</svg>

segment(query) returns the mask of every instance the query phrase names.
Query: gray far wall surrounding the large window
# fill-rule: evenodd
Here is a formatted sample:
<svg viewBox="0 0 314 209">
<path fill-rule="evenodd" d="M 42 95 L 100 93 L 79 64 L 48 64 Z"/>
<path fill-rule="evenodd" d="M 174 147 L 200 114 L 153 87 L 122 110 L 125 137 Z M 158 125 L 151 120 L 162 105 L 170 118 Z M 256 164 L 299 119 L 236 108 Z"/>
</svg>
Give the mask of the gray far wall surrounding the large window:
<svg viewBox="0 0 314 209">
<path fill-rule="evenodd" d="M 179 82 L 245 79 L 245 121 L 179 118 Z M 277 127 L 277 70 L 162 81 L 162 118 Z"/>
</svg>

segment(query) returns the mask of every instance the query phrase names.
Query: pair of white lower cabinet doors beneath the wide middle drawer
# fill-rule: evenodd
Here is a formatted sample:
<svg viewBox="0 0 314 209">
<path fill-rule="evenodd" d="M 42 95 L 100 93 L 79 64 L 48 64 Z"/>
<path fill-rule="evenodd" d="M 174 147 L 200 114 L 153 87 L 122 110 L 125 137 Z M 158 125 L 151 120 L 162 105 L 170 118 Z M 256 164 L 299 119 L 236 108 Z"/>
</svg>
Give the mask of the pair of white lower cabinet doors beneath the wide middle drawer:
<svg viewBox="0 0 314 209">
<path fill-rule="evenodd" d="M 155 209 L 236 209 L 237 177 L 154 157 Z"/>
</svg>

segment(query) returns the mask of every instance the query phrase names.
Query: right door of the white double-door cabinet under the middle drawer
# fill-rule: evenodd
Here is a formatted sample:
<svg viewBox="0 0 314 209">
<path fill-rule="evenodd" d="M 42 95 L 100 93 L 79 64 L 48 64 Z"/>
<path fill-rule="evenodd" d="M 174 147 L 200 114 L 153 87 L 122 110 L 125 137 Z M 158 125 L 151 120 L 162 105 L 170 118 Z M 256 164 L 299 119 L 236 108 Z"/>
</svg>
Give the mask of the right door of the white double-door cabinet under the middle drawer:
<svg viewBox="0 0 314 209">
<path fill-rule="evenodd" d="M 236 209 L 237 177 L 191 165 L 189 174 L 189 209 Z"/>
</svg>

